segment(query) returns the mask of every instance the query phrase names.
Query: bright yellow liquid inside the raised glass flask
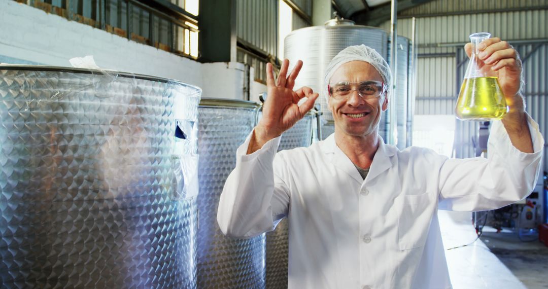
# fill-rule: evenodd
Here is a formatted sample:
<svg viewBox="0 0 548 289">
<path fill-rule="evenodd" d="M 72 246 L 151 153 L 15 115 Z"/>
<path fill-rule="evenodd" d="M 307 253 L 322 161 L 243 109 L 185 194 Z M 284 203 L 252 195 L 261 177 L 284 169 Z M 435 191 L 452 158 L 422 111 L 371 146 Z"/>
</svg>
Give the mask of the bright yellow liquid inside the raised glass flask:
<svg viewBox="0 0 548 289">
<path fill-rule="evenodd" d="M 502 119 L 508 112 L 496 77 L 465 78 L 455 114 L 462 120 Z"/>
</svg>

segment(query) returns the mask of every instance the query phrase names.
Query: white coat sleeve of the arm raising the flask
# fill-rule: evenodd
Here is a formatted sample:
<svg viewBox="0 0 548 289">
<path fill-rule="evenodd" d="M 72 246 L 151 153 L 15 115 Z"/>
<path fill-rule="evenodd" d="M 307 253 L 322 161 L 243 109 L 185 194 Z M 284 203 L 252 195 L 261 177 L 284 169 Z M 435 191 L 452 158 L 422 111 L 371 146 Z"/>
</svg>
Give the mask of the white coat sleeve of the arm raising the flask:
<svg viewBox="0 0 548 289">
<path fill-rule="evenodd" d="M 492 124 L 488 158 L 448 159 L 439 171 L 439 209 L 494 210 L 531 193 L 542 164 L 544 139 L 527 115 L 533 153 L 515 148 L 500 120 Z"/>
</svg>

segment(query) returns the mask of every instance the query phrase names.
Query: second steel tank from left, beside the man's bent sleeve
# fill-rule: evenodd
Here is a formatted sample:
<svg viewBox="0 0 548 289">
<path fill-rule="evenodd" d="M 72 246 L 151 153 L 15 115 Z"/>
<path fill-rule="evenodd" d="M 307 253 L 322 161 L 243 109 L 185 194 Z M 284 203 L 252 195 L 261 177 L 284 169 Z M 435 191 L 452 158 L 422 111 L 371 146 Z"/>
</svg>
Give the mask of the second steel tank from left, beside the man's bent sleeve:
<svg viewBox="0 0 548 289">
<path fill-rule="evenodd" d="M 236 166 L 236 149 L 256 123 L 258 103 L 202 99 L 198 152 L 198 288 L 264 288 L 265 234 L 227 238 L 216 221 L 226 178 Z"/>
</svg>

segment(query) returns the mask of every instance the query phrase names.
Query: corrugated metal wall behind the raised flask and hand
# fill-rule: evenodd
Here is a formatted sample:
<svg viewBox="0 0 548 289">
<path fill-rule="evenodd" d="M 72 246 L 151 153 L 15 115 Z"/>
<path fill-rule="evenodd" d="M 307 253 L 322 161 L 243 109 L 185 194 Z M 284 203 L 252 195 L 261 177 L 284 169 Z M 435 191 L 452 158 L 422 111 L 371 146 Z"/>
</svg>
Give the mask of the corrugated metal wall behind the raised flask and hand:
<svg viewBox="0 0 548 289">
<path fill-rule="evenodd" d="M 418 64 L 415 114 L 453 114 L 454 102 L 464 76 L 463 44 L 469 34 L 486 31 L 507 41 L 548 40 L 548 2 L 536 0 L 458 1 L 437 0 L 404 11 L 416 18 Z M 519 11 L 510 11 L 512 9 Z M 503 10 L 487 13 L 487 10 Z M 484 11 L 485 10 L 485 11 Z M 467 14 L 466 11 L 473 11 Z M 484 11 L 485 13 L 477 13 Z M 458 14 L 458 15 L 449 15 Z M 420 16 L 424 15 L 424 16 Z M 382 28 L 389 30 L 390 22 Z M 398 19 L 398 34 L 411 37 L 412 19 Z M 524 61 L 527 111 L 546 135 L 548 112 L 548 54 L 546 43 L 514 45 Z M 458 56 L 456 56 L 459 54 Z M 462 61 L 460 61 L 462 62 Z M 477 133 L 473 122 L 458 122 L 455 134 L 457 157 L 473 157 L 471 138 Z M 544 168 L 548 169 L 545 152 Z"/>
</svg>

